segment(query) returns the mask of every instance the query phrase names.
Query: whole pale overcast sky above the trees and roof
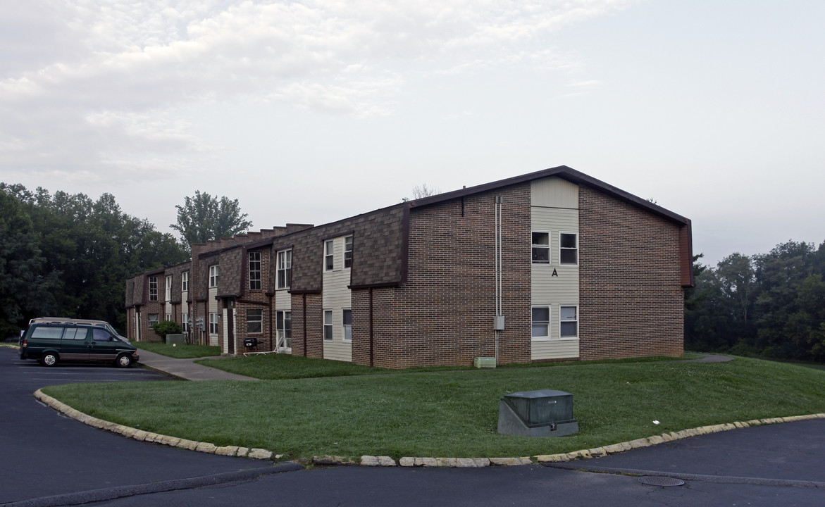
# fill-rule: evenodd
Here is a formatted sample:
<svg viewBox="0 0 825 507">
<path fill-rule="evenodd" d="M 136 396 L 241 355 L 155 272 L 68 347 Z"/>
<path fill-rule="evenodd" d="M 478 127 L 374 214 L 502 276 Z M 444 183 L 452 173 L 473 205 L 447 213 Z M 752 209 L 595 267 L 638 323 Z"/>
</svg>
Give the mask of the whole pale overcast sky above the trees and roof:
<svg viewBox="0 0 825 507">
<path fill-rule="evenodd" d="M 567 165 L 715 264 L 825 241 L 825 2 L 6 0 L 0 181 L 253 230 Z"/>
</svg>

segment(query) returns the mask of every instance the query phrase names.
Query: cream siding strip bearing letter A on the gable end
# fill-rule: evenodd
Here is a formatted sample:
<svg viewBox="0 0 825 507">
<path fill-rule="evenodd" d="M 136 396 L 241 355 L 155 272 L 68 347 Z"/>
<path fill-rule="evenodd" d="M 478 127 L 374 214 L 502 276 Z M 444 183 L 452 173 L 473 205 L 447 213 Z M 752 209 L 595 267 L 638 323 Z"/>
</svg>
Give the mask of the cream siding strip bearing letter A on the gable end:
<svg viewBox="0 0 825 507">
<path fill-rule="evenodd" d="M 559 259 L 559 233 L 578 234 L 578 186 L 544 178 L 532 182 L 531 197 L 532 230 L 549 232 L 550 238 L 549 264 L 532 265 L 530 285 L 532 305 L 550 308 L 550 336 L 532 340 L 531 359 L 578 357 L 578 339 L 559 336 L 559 307 L 578 305 L 578 265 L 562 265 Z"/>
</svg>

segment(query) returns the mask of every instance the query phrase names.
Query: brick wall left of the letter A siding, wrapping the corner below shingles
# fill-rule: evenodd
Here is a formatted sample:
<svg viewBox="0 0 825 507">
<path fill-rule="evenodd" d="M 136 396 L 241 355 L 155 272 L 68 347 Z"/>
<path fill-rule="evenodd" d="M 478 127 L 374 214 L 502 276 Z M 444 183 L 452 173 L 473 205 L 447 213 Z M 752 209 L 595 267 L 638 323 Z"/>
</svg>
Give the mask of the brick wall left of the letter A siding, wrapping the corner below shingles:
<svg viewBox="0 0 825 507">
<path fill-rule="evenodd" d="M 407 283 L 373 292 L 375 366 L 469 365 L 495 355 L 495 195 L 504 222 L 499 359 L 530 361 L 530 185 L 522 184 L 465 197 L 463 216 L 460 199 L 412 209 Z M 369 364 L 369 291 L 352 298 L 353 361 Z"/>
</svg>

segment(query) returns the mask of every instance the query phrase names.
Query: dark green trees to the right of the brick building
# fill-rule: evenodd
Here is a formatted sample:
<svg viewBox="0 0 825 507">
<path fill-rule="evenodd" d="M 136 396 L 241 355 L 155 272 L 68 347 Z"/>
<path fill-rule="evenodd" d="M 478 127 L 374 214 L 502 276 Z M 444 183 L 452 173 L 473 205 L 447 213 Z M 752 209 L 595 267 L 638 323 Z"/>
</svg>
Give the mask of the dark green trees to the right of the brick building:
<svg viewBox="0 0 825 507">
<path fill-rule="evenodd" d="M 825 242 L 734 253 L 715 267 L 700 260 L 686 293 L 687 350 L 825 362 Z"/>
</svg>

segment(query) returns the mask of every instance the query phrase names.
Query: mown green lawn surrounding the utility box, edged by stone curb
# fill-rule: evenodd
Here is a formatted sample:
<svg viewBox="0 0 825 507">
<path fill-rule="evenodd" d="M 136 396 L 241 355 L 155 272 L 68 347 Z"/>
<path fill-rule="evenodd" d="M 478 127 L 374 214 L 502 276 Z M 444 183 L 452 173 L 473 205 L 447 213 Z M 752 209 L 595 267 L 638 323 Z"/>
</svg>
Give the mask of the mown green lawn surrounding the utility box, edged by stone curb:
<svg viewBox="0 0 825 507">
<path fill-rule="evenodd" d="M 573 393 L 578 434 L 547 439 L 497 434 L 499 399 L 535 389 Z M 737 358 L 721 364 L 573 364 L 259 382 L 75 383 L 44 392 L 122 425 L 216 445 L 267 448 L 285 458 L 491 458 L 825 412 L 825 371 Z"/>
</svg>

